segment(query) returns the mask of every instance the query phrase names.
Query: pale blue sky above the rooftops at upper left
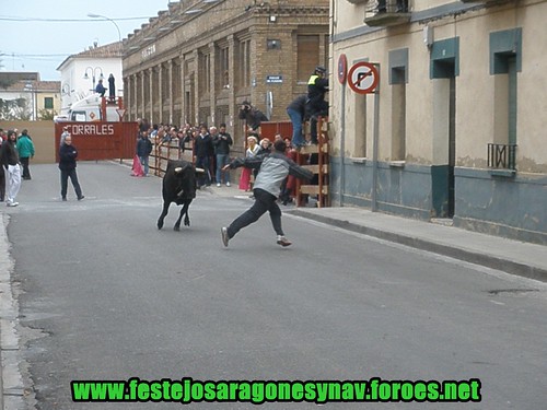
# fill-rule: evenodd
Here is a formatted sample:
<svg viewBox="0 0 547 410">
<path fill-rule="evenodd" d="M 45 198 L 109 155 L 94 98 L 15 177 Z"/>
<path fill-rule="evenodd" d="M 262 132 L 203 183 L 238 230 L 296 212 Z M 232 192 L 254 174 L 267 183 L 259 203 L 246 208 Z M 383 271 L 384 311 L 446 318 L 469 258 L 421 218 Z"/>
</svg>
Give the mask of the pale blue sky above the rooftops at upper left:
<svg viewBox="0 0 547 410">
<path fill-rule="evenodd" d="M 60 81 L 62 61 L 132 34 L 150 17 L 167 10 L 168 0 L 0 0 L 0 70 L 39 72 L 43 81 Z M 172 1 L 174 2 L 174 1 Z M 91 19 L 88 14 L 104 15 Z"/>
</svg>

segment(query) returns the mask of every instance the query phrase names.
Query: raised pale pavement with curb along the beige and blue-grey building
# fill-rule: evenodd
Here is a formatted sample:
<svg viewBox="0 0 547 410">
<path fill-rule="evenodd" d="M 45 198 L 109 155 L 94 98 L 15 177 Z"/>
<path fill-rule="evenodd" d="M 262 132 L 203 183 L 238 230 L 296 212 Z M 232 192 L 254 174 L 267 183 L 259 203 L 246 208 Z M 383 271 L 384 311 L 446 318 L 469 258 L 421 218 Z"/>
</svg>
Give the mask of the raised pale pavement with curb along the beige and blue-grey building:
<svg viewBox="0 0 547 410">
<path fill-rule="evenodd" d="M 236 187 L 210 187 L 212 195 L 247 198 Z M 547 247 L 361 208 L 295 208 L 283 212 L 407 245 L 508 273 L 547 282 Z"/>
</svg>

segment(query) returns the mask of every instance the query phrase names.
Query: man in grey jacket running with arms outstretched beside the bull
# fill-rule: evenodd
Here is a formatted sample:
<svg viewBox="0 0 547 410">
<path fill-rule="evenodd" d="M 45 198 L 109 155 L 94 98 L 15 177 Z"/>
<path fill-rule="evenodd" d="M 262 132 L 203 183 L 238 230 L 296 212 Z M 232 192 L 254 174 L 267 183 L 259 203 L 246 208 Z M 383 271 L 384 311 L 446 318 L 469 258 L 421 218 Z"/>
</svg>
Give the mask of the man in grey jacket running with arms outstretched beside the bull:
<svg viewBox="0 0 547 410">
<path fill-rule="evenodd" d="M 236 218 L 228 227 L 221 229 L 222 243 L 228 246 L 231 238 L 235 236 L 245 226 L 258 221 L 258 219 L 269 211 L 274 231 L 277 234 L 277 244 L 289 246 L 292 243 L 287 239 L 281 226 L 281 210 L 277 204 L 277 199 L 281 191 L 281 184 L 288 175 L 294 175 L 296 178 L 311 179 L 313 173 L 290 160 L 286 155 L 287 145 L 283 140 L 276 141 L 274 144 L 275 151 L 266 155 L 257 155 L 255 157 L 235 159 L 224 168 L 236 168 L 245 166 L 257 168 L 258 176 L 256 177 L 253 194 L 255 203 L 247 211 Z"/>
</svg>

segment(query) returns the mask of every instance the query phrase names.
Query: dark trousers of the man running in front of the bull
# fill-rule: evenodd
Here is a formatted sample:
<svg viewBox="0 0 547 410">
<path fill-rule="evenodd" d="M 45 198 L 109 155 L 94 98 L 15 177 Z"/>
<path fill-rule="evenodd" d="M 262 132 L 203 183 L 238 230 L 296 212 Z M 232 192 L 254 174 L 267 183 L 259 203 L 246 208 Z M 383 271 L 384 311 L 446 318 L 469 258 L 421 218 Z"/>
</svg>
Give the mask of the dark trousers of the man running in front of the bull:
<svg viewBox="0 0 547 410">
<path fill-rule="evenodd" d="M 255 203 L 248 210 L 243 212 L 238 218 L 236 218 L 230 226 L 228 226 L 228 236 L 230 238 L 234 237 L 237 232 L 240 232 L 245 226 L 251 225 L 253 222 L 258 221 L 258 219 L 266 213 L 270 212 L 271 225 L 274 231 L 278 235 L 283 236 L 283 230 L 281 227 L 281 210 L 277 204 L 277 198 L 270 192 L 264 189 L 254 189 Z"/>
</svg>

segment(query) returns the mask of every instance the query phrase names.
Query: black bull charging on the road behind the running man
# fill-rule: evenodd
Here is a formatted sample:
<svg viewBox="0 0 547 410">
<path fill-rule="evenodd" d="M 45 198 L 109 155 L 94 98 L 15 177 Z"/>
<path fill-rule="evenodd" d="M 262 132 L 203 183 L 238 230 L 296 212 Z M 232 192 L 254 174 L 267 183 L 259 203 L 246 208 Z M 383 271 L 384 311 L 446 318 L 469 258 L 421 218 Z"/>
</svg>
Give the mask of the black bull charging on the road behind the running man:
<svg viewBox="0 0 547 410">
<path fill-rule="evenodd" d="M 170 160 L 167 169 L 163 176 L 163 211 L 158 219 L 158 229 L 163 227 L 163 220 L 167 215 L 171 202 L 183 206 L 181 214 L 175 223 L 175 231 L 181 230 L 181 220 L 184 218 L 185 226 L 190 225 L 188 216 L 188 208 L 191 201 L 196 198 L 196 174 L 202 173 L 203 169 L 195 168 L 194 165 L 183 160 Z"/>
</svg>

